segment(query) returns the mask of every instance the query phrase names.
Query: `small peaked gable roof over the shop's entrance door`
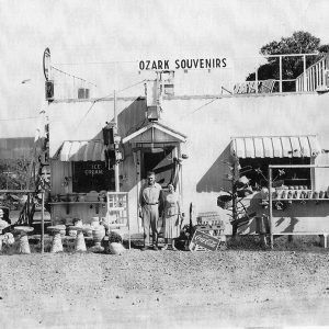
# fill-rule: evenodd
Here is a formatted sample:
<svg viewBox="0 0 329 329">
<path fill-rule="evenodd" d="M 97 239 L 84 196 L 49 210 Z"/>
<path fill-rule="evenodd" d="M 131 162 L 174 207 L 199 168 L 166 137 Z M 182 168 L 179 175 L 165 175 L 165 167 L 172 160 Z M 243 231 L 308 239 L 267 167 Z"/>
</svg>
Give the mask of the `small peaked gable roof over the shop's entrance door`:
<svg viewBox="0 0 329 329">
<path fill-rule="evenodd" d="M 123 138 L 123 144 L 131 143 L 184 143 L 186 136 L 159 123 L 149 123 L 135 133 Z"/>
</svg>

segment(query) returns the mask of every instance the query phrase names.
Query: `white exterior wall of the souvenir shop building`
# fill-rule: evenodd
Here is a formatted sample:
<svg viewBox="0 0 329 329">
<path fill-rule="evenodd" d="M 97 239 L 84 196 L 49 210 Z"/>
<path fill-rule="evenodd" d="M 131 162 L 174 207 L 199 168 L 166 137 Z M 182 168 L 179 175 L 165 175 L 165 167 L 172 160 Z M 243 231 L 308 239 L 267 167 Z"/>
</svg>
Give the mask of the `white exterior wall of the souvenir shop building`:
<svg viewBox="0 0 329 329">
<path fill-rule="evenodd" d="M 63 140 L 100 137 L 98 134 L 105 121 L 113 118 L 113 102 L 92 104 L 77 102 L 49 106 L 50 157 Z M 222 161 L 229 157 L 230 137 L 316 134 L 321 147 L 329 149 L 328 104 L 328 94 L 315 93 L 164 100 L 161 122 L 188 136 L 186 144 L 182 146 L 182 152 L 189 155 L 189 159 L 183 161 L 182 174 L 184 212 L 189 214 L 191 202 L 196 213 L 219 211 L 216 205 L 218 192 L 220 188 L 228 186 L 224 180 L 227 168 Z M 132 101 L 118 100 L 118 114 L 123 114 L 131 105 Z M 136 111 L 131 109 L 129 115 L 126 115 L 125 132 L 131 126 L 129 133 L 133 133 L 145 120 L 143 101 L 135 105 Z M 127 152 L 125 157 L 122 189 L 129 191 L 132 223 L 135 223 L 133 229 L 136 229 L 137 170 L 133 154 Z M 329 156 L 319 156 L 316 163 L 329 163 Z M 328 177 L 327 171 L 318 171 L 316 188 L 328 188 Z"/>
</svg>

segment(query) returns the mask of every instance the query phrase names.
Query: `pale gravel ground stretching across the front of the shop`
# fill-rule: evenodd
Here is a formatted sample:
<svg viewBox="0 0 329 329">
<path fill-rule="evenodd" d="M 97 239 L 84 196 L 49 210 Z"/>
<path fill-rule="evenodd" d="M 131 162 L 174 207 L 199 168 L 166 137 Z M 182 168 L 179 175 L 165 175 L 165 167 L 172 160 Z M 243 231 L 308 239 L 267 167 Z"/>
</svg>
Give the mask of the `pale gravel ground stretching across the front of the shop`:
<svg viewBox="0 0 329 329">
<path fill-rule="evenodd" d="M 0 256 L 0 328 L 327 326 L 329 253 L 262 250 Z"/>
</svg>

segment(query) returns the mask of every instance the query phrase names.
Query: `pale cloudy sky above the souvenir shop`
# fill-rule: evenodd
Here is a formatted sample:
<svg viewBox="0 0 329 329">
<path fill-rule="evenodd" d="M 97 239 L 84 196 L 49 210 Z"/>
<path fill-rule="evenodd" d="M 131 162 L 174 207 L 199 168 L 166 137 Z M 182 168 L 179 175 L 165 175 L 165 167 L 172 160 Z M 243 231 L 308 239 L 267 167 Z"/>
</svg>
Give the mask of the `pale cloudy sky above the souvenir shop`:
<svg viewBox="0 0 329 329">
<path fill-rule="evenodd" d="M 0 137 L 34 136 L 46 47 L 53 66 L 95 83 L 97 97 L 145 79 L 139 60 L 227 58 L 211 73 L 177 72 L 180 91 L 195 92 L 242 81 L 262 45 L 294 31 L 329 43 L 328 9 L 327 0 L 0 0 Z"/>
</svg>

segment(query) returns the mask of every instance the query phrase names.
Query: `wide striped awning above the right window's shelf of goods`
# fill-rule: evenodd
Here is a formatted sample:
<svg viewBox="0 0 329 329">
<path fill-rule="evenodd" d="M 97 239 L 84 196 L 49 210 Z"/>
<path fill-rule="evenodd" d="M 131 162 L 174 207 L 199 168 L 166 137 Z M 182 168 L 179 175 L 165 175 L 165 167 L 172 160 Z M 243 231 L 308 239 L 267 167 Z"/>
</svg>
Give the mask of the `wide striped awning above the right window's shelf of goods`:
<svg viewBox="0 0 329 329">
<path fill-rule="evenodd" d="M 310 158 L 321 152 L 315 135 L 235 137 L 230 148 L 238 158 Z"/>
</svg>

